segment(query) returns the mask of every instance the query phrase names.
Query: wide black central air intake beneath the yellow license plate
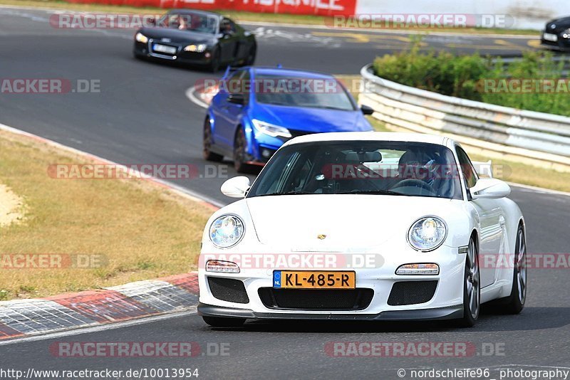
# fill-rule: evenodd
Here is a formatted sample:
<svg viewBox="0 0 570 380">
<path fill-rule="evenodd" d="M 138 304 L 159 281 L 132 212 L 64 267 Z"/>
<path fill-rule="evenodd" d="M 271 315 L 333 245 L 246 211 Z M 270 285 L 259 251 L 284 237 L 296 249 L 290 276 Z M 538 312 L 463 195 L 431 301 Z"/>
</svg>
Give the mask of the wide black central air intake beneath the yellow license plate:
<svg viewBox="0 0 570 380">
<path fill-rule="evenodd" d="M 363 310 L 370 305 L 372 289 L 274 289 L 259 288 L 259 298 L 270 309 Z"/>
</svg>

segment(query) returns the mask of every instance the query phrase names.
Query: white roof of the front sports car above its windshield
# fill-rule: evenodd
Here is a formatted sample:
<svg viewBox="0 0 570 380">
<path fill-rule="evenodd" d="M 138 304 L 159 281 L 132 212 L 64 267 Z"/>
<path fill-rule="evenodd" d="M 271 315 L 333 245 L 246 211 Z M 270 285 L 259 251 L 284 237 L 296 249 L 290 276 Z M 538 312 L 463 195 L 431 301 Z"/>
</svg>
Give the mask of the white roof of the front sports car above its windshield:
<svg viewBox="0 0 570 380">
<path fill-rule="evenodd" d="M 285 145 L 302 144 L 304 142 L 332 142 L 332 141 L 403 141 L 403 142 L 425 142 L 427 144 L 438 144 L 445 147 L 452 147 L 454 142 L 445 136 L 438 134 L 423 133 L 402 133 L 402 132 L 329 132 L 305 134 L 295 137 L 286 142 Z"/>
</svg>

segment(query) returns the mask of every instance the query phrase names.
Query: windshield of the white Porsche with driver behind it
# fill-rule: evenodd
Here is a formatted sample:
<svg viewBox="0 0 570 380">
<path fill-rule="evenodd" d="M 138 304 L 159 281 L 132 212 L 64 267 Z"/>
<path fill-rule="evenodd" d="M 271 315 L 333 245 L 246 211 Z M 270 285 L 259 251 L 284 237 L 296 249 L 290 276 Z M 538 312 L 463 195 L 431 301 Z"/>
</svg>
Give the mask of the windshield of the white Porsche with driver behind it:
<svg viewBox="0 0 570 380">
<path fill-rule="evenodd" d="M 462 199 L 451 150 L 420 142 L 293 144 L 275 154 L 247 197 L 295 194 Z"/>
</svg>

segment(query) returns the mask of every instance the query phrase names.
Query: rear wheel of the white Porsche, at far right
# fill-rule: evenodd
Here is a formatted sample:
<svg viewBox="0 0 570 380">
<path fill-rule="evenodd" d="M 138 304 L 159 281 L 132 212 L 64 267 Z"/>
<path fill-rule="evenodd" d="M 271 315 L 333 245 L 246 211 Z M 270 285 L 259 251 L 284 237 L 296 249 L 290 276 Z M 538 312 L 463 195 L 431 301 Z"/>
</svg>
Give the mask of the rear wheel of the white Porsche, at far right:
<svg viewBox="0 0 570 380">
<path fill-rule="evenodd" d="M 512 290 L 509 297 L 497 300 L 494 309 L 503 314 L 519 314 L 527 300 L 527 241 L 524 228 L 517 230 L 517 243 L 514 246 L 514 270 L 512 274 Z"/>
</svg>

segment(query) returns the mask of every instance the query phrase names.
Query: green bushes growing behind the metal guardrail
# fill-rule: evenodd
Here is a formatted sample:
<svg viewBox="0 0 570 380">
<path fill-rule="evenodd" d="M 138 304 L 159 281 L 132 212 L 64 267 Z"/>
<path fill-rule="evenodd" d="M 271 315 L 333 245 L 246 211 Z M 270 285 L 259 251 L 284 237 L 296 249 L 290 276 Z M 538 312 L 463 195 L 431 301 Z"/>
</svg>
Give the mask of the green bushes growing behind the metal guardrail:
<svg viewBox="0 0 570 380">
<path fill-rule="evenodd" d="M 564 81 L 559 81 L 564 79 L 564 62 L 554 62 L 549 52 L 529 51 L 524 53 L 522 60 L 505 65 L 500 59 L 493 63 L 491 57 L 480 56 L 479 53 L 468 56 L 447 51 L 425 53 L 420 51 L 420 45 L 421 38 L 412 38 L 407 51 L 376 58 L 373 65 L 375 74 L 443 95 L 570 116 L 570 88 L 564 86 Z M 509 83 L 518 83 L 512 82 L 518 79 L 552 80 L 561 87 L 559 91 L 519 93 L 504 91 L 504 87 L 494 92 L 493 87 L 485 86 L 485 83 L 494 83 L 495 88 L 500 89 L 499 85 L 509 80 Z"/>
</svg>

